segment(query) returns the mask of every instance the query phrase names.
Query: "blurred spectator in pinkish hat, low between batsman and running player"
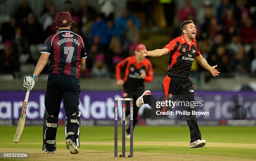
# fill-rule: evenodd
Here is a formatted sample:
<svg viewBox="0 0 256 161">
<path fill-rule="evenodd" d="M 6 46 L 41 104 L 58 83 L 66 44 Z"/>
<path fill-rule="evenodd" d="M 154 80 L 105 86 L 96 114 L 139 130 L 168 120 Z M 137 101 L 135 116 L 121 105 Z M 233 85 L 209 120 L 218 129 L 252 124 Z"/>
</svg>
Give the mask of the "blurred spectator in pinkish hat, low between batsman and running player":
<svg viewBox="0 0 256 161">
<path fill-rule="evenodd" d="M 91 75 L 92 77 L 102 78 L 110 77 L 108 67 L 105 64 L 105 56 L 98 54 L 95 56 L 95 63 L 93 64 Z"/>
</svg>

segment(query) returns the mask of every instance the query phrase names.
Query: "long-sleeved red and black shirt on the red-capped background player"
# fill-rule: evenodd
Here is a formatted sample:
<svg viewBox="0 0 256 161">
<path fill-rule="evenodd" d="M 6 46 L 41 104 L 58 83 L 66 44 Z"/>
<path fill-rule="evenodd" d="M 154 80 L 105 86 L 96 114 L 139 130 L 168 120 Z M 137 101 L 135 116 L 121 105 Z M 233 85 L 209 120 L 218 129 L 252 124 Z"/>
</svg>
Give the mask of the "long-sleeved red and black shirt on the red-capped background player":
<svg viewBox="0 0 256 161">
<path fill-rule="evenodd" d="M 127 57 L 116 65 L 115 78 L 121 79 L 121 68 L 125 68 L 125 76 L 123 81 L 125 82 L 123 88 L 127 91 L 143 90 L 144 81 L 151 82 L 153 80 L 153 69 L 151 62 L 144 58 L 142 62 L 138 63 L 136 56 Z M 141 72 L 145 71 L 147 76 L 145 79 L 141 79 Z"/>
</svg>

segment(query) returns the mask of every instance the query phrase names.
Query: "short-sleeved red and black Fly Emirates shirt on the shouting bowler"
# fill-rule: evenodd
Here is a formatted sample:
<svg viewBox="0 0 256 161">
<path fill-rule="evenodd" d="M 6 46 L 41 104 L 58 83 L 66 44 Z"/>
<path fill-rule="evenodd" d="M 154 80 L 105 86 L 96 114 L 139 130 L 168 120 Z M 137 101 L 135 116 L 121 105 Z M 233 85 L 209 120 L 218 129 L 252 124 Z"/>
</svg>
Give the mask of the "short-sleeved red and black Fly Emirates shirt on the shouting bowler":
<svg viewBox="0 0 256 161">
<path fill-rule="evenodd" d="M 187 42 L 184 35 L 170 41 L 164 48 L 169 50 L 167 75 L 169 77 L 188 78 L 195 57 L 200 56 L 197 41 Z"/>
</svg>

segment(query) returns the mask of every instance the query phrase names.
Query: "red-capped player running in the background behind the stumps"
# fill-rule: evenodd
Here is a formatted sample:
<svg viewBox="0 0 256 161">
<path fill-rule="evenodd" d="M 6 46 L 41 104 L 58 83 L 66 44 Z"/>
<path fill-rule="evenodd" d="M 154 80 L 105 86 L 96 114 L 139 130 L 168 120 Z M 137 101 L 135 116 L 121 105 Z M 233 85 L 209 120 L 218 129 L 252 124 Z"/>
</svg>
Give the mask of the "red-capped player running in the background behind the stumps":
<svg viewBox="0 0 256 161">
<path fill-rule="evenodd" d="M 146 49 L 144 44 L 136 45 L 134 50 L 135 55 L 123 59 L 115 68 L 116 84 L 123 87 L 123 97 L 131 98 L 133 102 L 143 94 L 144 82 L 151 82 L 154 77 L 151 62 L 141 56 L 141 52 L 139 52 L 139 50 L 143 49 Z M 121 78 L 121 69 L 124 69 L 125 72 L 123 79 Z M 126 107 L 130 107 L 128 102 L 126 102 Z M 138 122 L 138 110 L 139 108 L 134 104 L 133 127 L 135 127 Z M 125 116 L 129 114 L 130 109 L 126 109 Z M 130 139 L 130 126 L 126 130 L 125 137 Z"/>
</svg>

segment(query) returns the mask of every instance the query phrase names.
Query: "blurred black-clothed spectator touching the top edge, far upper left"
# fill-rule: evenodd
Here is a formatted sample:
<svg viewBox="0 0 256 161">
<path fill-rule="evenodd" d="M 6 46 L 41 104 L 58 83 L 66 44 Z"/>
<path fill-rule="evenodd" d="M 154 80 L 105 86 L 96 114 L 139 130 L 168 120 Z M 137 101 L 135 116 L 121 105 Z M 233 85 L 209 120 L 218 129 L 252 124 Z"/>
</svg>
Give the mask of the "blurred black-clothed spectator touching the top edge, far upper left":
<svg viewBox="0 0 256 161">
<path fill-rule="evenodd" d="M 18 25 L 22 25 L 27 21 L 28 14 L 32 10 L 28 6 L 27 0 L 22 0 L 20 6 L 15 10 L 15 19 L 17 20 Z"/>
</svg>

